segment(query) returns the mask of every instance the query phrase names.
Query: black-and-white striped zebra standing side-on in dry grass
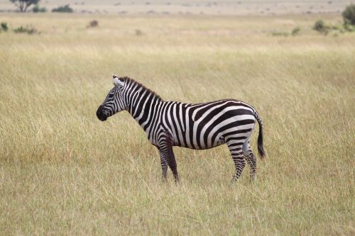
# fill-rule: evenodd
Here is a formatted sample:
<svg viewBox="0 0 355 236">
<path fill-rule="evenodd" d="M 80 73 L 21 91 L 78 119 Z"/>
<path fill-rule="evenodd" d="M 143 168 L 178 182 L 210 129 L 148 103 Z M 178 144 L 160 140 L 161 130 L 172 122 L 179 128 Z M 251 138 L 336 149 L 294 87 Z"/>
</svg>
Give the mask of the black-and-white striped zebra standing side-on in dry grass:
<svg viewBox="0 0 355 236">
<path fill-rule="evenodd" d="M 128 111 L 141 125 L 152 145 L 158 148 L 163 179 L 170 167 L 179 181 L 173 146 L 205 150 L 226 144 L 231 152 L 236 181 L 246 165 L 251 179 L 256 175 L 256 157 L 250 139 L 259 125 L 258 153 L 264 157 L 263 124 L 256 109 L 243 101 L 223 99 L 206 103 L 163 101 L 154 91 L 129 77 L 113 75 L 114 88 L 97 109 L 97 118 L 107 120 L 119 111 Z"/>
</svg>

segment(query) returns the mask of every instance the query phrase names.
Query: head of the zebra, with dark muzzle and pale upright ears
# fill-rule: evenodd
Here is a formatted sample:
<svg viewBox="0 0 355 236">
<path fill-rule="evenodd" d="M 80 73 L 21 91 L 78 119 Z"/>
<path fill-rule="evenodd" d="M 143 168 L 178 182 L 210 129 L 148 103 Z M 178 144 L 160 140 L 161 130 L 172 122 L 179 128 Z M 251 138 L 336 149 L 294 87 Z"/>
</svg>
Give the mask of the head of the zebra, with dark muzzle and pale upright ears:
<svg viewBox="0 0 355 236">
<path fill-rule="evenodd" d="M 114 77 L 114 88 L 109 91 L 104 102 L 99 106 L 96 112 L 97 118 L 104 121 L 107 120 L 109 116 L 112 116 L 119 111 L 126 110 L 123 89 L 124 80 L 120 79 L 116 75 Z"/>
</svg>

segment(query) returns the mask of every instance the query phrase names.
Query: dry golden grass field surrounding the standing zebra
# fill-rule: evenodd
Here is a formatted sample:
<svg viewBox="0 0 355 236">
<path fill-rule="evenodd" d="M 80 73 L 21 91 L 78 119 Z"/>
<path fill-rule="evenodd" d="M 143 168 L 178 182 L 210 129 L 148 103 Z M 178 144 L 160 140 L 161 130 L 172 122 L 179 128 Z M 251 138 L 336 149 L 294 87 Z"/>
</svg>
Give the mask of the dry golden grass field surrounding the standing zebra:
<svg viewBox="0 0 355 236">
<path fill-rule="evenodd" d="M 318 18 L 342 23 L 2 13 L 40 34 L 0 33 L 0 234 L 354 235 L 355 34 L 315 33 Z M 129 113 L 95 115 L 111 74 L 166 101 L 255 106 L 267 152 L 256 181 L 246 167 L 230 183 L 224 145 L 175 147 L 180 183 L 164 183 Z"/>
</svg>

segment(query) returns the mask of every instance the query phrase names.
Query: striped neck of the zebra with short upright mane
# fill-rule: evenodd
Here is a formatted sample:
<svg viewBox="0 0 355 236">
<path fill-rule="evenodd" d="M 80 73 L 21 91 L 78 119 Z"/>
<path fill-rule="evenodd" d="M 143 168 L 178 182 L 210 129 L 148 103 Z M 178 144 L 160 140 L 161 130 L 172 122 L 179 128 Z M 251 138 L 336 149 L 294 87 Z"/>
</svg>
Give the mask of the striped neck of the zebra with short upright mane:
<svg viewBox="0 0 355 236">
<path fill-rule="evenodd" d="M 126 78 L 125 94 L 127 111 L 146 131 L 156 118 L 155 111 L 163 99 L 146 86 L 129 78 Z"/>
</svg>

